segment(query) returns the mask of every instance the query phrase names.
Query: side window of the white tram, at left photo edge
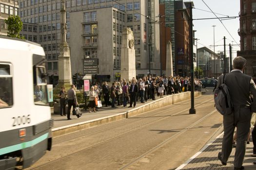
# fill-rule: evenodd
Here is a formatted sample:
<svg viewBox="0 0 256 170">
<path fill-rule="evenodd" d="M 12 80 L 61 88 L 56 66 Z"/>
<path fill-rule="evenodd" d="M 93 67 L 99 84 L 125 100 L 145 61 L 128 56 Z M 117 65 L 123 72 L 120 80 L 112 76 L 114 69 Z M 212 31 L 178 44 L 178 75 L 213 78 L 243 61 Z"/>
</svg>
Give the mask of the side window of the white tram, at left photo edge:
<svg viewBox="0 0 256 170">
<path fill-rule="evenodd" d="M 0 108 L 13 105 L 12 65 L 0 63 Z"/>
</svg>

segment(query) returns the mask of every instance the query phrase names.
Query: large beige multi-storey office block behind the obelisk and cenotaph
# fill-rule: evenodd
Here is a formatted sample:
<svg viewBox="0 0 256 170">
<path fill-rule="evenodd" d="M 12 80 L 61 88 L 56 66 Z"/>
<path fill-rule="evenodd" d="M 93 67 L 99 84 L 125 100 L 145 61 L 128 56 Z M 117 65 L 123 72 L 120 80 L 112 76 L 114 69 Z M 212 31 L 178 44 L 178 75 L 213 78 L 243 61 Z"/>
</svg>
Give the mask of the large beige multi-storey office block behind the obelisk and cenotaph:
<svg viewBox="0 0 256 170">
<path fill-rule="evenodd" d="M 130 27 L 135 36 L 137 75 L 148 74 L 148 47 L 151 72 L 160 73 L 159 25 L 151 24 L 148 28 L 150 21 L 146 19 L 146 16 L 158 16 L 158 0 L 65 0 L 65 6 L 72 75 L 78 73 L 77 78 L 82 78 L 87 73 L 84 60 L 97 58 L 98 72 L 92 73 L 93 78 L 96 81 L 118 79 L 116 75 L 120 72 L 122 62 L 121 31 L 125 27 Z M 57 80 L 60 0 L 20 0 L 20 17 L 25 25 L 38 26 L 39 34 L 36 39 L 45 50 L 47 72 Z M 149 42 L 148 32 L 152 42 Z M 21 34 L 28 37 L 30 33 L 23 29 Z"/>
</svg>

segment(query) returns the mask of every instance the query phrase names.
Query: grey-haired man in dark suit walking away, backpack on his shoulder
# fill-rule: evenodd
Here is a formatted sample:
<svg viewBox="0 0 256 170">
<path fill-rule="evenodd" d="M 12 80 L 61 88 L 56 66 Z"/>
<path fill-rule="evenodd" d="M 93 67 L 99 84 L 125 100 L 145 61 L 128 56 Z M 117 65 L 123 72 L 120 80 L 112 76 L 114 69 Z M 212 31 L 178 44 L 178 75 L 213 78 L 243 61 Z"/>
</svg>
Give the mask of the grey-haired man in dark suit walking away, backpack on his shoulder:
<svg viewBox="0 0 256 170">
<path fill-rule="evenodd" d="M 234 104 L 234 113 L 223 116 L 224 136 L 222 139 L 222 150 L 218 153 L 218 159 L 222 165 L 226 165 L 232 151 L 232 141 L 236 127 L 236 153 L 234 159 L 234 170 L 243 170 L 243 159 L 246 150 L 246 141 L 251 127 L 252 112 L 256 112 L 256 103 L 251 101 L 250 94 L 256 99 L 256 85 L 251 76 L 243 74 L 246 60 L 236 57 L 233 60 L 234 69 L 226 74 L 225 82 L 229 87 L 231 101 Z M 217 88 L 222 84 L 223 75 L 219 77 Z"/>
</svg>

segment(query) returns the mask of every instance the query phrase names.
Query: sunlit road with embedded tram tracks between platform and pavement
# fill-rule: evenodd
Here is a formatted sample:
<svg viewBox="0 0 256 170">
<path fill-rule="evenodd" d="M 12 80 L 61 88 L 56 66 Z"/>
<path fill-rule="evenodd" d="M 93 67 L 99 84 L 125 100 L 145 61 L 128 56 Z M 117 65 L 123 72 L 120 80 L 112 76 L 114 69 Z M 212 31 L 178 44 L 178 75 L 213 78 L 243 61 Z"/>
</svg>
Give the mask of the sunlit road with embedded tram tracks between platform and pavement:
<svg viewBox="0 0 256 170">
<path fill-rule="evenodd" d="M 213 96 L 54 138 L 53 149 L 27 170 L 173 170 L 217 136 L 222 117 Z"/>
</svg>

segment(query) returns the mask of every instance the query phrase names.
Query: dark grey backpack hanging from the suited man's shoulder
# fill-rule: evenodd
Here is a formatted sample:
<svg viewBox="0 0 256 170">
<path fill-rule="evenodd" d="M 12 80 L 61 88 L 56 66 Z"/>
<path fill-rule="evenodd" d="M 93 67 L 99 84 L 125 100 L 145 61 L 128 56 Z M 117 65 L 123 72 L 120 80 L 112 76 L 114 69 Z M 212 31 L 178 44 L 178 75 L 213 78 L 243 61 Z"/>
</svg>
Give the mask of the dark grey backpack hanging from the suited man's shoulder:
<svg viewBox="0 0 256 170">
<path fill-rule="evenodd" d="M 219 85 L 214 91 L 214 102 L 217 111 L 225 116 L 234 112 L 233 103 L 231 101 L 229 88 L 226 85 L 225 75 L 223 75 L 222 84 Z"/>
</svg>

